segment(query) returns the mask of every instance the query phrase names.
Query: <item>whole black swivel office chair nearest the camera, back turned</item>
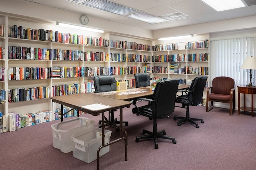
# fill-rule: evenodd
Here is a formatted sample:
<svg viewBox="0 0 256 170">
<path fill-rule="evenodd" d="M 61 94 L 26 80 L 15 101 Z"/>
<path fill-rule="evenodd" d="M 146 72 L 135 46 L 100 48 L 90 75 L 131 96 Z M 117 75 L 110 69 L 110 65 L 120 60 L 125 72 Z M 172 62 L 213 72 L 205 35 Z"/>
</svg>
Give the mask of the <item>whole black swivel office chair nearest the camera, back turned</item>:
<svg viewBox="0 0 256 170">
<path fill-rule="evenodd" d="M 153 119 L 153 132 L 143 129 L 142 135 L 136 137 L 135 142 L 139 142 L 140 139 L 154 138 L 155 148 L 158 149 L 157 138 L 170 139 L 174 144 L 176 140 L 173 137 L 166 136 L 165 130 L 157 131 L 157 119 L 166 118 L 174 112 L 176 92 L 178 90 L 179 80 L 164 80 L 157 83 L 154 90 L 152 99 L 140 98 L 133 101 L 135 106 L 132 109 L 132 113 L 139 114 L 148 117 L 150 120 Z M 150 104 L 138 107 L 136 105 L 137 100 L 150 101 Z"/>
</svg>

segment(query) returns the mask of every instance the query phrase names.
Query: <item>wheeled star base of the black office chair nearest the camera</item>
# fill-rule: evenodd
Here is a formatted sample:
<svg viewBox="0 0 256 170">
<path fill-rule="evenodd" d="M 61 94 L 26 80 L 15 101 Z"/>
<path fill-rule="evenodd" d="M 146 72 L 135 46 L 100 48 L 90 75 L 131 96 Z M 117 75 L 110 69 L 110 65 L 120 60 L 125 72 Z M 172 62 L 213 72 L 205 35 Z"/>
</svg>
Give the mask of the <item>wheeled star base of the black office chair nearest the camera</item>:
<svg viewBox="0 0 256 170">
<path fill-rule="evenodd" d="M 170 139 L 170 140 L 172 140 L 172 143 L 174 143 L 174 144 L 177 143 L 177 141 L 175 140 L 175 138 L 165 135 L 165 134 L 166 134 L 166 131 L 165 131 L 165 130 L 160 130 L 159 132 L 157 132 L 156 134 L 154 134 L 153 132 L 150 132 L 150 131 L 148 131 L 148 130 L 143 129 L 143 130 L 142 130 L 142 134 L 146 134 L 146 133 L 147 133 L 148 135 L 142 135 L 142 136 L 136 137 L 135 142 L 139 142 L 140 139 L 154 138 L 155 149 L 158 149 L 157 138 Z"/>
</svg>

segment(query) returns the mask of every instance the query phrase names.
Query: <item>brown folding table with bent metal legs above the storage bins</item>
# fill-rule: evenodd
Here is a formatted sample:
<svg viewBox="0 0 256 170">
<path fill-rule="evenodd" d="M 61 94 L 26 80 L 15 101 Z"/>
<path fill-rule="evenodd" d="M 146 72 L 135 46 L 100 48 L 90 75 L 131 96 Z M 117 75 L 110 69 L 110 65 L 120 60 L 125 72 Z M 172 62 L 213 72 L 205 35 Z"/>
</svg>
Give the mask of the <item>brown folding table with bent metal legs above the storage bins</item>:
<svg viewBox="0 0 256 170">
<path fill-rule="evenodd" d="M 102 146 L 100 146 L 97 150 L 97 170 L 100 169 L 100 150 L 104 148 L 105 146 L 108 146 L 110 144 L 113 144 L 115 142 L 124 140 L 124 152 L 125 152 L 125 160 L 127 161 L 127 138 L 123 137 L 123 132 L 125 133 L 125 136 L 127 136 L 126 131 L 123 129 L 122 121 L 123 121 L 123 111 L 122 109 L 125 107 L 130 107 L 131 102 L 129 101 L 123 101 L 118 100 L 114 98 L 109 98 L 106 96 L 100 96 L 96 95 L 96 93 L 78 93 L 73 95 L 63 95 L 63 96 L 56 96 L 51 97 L 53 102 L 61 104 L 61 121 L 63 121 L 63 105 L 67 107 L 71 107 L 73 109 L 77 109 L 79 111 L 83 111 L 85 113 L 89 113 L 91 115 L 102 116 L 102 122 L 104 122 L 104 112 L 108 112 L 114 109 L 120 109 L 120 138 L 117 138 L 116 140 L 112 140 L 111 142 L 108 142 L 105 144 L 105 125 L 102 123 Z M 94 105 L 94 104 L 100 104 L 107 106 L 107 108 L 84 108 L 83 106 L 87 105 Z M 79 115 L 79 114 L 78 114 Z"/>
</svg>

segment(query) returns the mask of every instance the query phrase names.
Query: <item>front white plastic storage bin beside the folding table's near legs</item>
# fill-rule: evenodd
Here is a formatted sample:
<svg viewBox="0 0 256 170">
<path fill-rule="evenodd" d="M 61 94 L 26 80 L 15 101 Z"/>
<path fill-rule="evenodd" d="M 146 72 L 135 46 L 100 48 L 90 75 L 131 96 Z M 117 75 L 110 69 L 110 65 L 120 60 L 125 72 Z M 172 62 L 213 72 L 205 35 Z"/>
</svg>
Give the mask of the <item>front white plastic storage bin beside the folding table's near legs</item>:
<svg viewBox="0 0 256 170">
<path fill-rule="evenodd" d="M 105 130 L 105 144 L 109 142 L 110 130 Z M 73 156 L 86 163 L 91 163 L 97 159 L 97 150 L 102 145 L 102 129 L 98 127 L 90 128 L 84 132 L 73 134 L 74 141 Z M 100 156 L 109 152 L 109 145 L 100 150 Z"/>
</svg>

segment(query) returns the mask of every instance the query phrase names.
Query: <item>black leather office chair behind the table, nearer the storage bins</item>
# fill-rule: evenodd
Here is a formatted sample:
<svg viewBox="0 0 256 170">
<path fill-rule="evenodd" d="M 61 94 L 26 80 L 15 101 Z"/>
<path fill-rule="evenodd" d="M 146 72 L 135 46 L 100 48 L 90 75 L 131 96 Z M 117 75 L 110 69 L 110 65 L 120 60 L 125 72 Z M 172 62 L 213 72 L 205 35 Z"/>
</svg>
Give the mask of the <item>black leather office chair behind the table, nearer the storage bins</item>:
<svg viewBox="0 0 256 170">
<path fill-rule="evenodd" d="M 116 79 L 112 75 L 94 76 L 93 81 L 95 89 L 94 93 L 116 91 Z M 105 123 L 106 125 L 119 130 L 119 127 L 116 124 L 120 124 L 120 121 L 117 121 L 117 119 L 114 118 L 114 111 L 116 110 L 112 110 L 108 113 L 108 119 L 105 117 Z M 99 124 L 101 123 L 102 121 L 99 121 Z M 125 126 L 128 126 L 128 122 L 123 121 L 123 123 L 125 124 Z"/>
</svg>

